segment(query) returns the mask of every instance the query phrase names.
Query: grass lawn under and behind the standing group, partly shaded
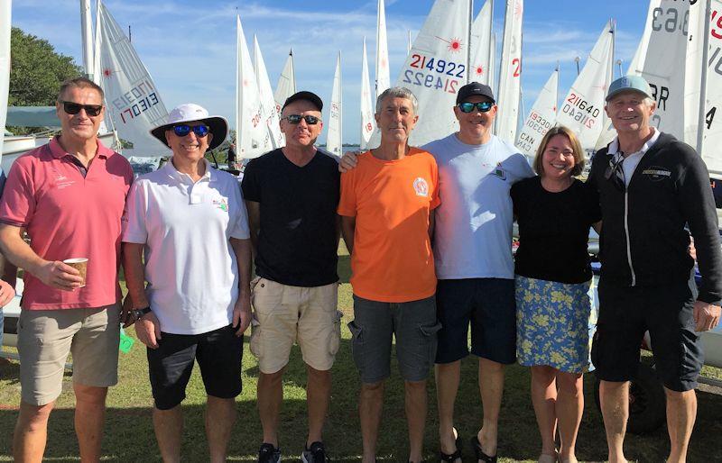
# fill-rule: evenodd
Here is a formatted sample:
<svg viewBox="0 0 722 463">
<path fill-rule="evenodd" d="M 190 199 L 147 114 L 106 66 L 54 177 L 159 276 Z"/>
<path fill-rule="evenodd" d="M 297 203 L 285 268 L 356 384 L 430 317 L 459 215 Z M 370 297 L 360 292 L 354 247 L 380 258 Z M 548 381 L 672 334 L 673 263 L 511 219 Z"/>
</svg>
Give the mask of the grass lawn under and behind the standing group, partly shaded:
<svg viewBox="0 0 722 463">
<path fill-rule="evenodd" d="M 342 285 L 338 304 L 344 313 L 341 349 L 333 368 L 333 388 L 325 441 L 334 461 L 359 461 L 361 437 L 356 413 L 358 376 L 350 350 L 350 333 L 346 322 L 353 318 L 350 274 L 347 251 L 341 246 L 339 276 Z M 134 337 L 134 330 L 127 331 Z M 151 397 L 145 350 L 136 343 L 128 354 L 120 354 L 119 383 L 108 394 L 106 430 L 103 442 L 105 461 L 159 461 L 151 422 Z M 0 461 L 11 461 L 10 444 L 17 405 L 20 402 L 18 364 L 0 365 Z M 395 367 L 394 367 L 395 368 Z M 722 371 L 706 368 L 704 374 L 722 377 Z M 230 442 L 230 461 L 255 461 L 261 443 L 261 426 L 255 408 L 257 363 L 244 351 L 244 391 L 236 399 L 238 422 Z M 507 369 L 504 403 L 500 418 L 500 461 L 536 461 L 541 444 L 529 397 L 529 371 L 513 366 Z M 579 432 L 578 457 L 584 461 L 606 458 L 606 440 L 601 416 L 592 395 L 593 375 L 585 378 L 586 406 Z M 306 438 L 305 368 L 297 347 L 284 378 L 284 403 L 281 416 L 281 447 L 283 457 L 299 461 Z M 72 383 L 69 376 L 63 383 L 63 394 L 51 416 L 47 461 L 79 461 L 78 444 L 73 431 Z M 436 399 L 433 381 L 429 384 L 429 417 L 424 448 L 428 461 L 438 461 Z M 183 403 L 185 431 L 182 455 L 185 461 L 207 461 L 208 449 L 203 430 L 205 391 L 195 369 Z M 698 391 L 699 415 L 690 444 L 690 462 L 722 461 L 722 395 L 720 391 Z M 457 428 L 465 440 L 464 461 L 474 461 L 468 439 L 481 420 L 481 404 L 477 389 L 477 361 L 462 362 L 461 386 L 457 401 Z M 379 459 L 403 461 L 407 457 L 406 423 L 403 413 L 403 383 L 394 372 L 387 382 L 384 420 L 379 439 Z M 664 461 L 669 450 L 666 429 L 644 436 L 629 435 L 625 451 L 628 458 L 640 462 Z"/>
</svg>

